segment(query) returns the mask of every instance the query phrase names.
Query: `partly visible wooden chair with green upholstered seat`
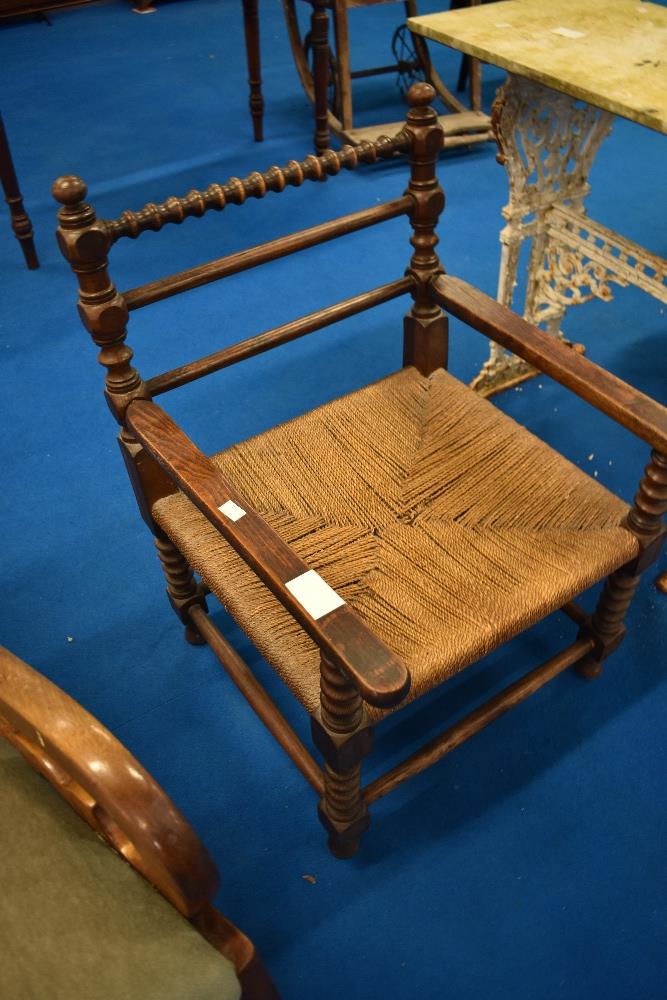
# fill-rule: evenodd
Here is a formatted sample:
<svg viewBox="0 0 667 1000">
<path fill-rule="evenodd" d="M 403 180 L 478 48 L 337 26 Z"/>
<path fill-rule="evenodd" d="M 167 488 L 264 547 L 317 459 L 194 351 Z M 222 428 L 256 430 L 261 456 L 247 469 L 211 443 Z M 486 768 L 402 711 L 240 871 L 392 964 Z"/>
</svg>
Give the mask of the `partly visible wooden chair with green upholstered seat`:
<svg viewBox="0 0 667 1000">
<path fill-rule="evenodd" d="M 173 802 L 1 646 L 0 815 L 3 996 L 278 1000 L 252 942 L 213 907 L 220 877 Z"/>
</svg>

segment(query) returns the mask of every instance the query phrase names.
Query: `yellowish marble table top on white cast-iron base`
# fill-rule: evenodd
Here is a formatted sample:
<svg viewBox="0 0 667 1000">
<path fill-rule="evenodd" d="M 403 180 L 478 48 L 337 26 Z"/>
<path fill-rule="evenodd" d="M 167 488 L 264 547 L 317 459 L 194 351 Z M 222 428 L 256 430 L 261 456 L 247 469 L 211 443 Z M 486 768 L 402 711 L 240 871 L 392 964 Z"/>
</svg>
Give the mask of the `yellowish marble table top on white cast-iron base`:
<svg viewBox="0 0 667 1000">
<path fill-rule="evenodd" d="M 416 34 L 667 134 L 667 8 L 502 0 L 408 20 Z"/>
</svg>

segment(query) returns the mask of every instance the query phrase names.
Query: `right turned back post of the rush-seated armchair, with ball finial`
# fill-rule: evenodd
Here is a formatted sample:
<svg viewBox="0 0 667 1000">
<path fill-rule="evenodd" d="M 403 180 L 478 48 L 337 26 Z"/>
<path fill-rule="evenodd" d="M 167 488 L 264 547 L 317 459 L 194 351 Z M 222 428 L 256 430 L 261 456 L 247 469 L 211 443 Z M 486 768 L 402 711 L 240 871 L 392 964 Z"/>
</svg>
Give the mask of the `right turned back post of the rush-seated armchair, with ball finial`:
<svg viewBox="0 0 667 1000">
<path fill-rule="evenodd" d="M 444 144 L 438 116 L 430 107 L 435 90 L 429 83 L 415 83 L 408 91 L 405 132 L 410 137 L 410 183 L 406 194 L 413 200 L 409 212 L 414 253 L 408 267 L 416 281 L 414 305 L 403 326 L 403 364 L 414 365 L 422 375 L 447 367 L 448 321 L 434 302 L 430 282 L 444 271 L 436 253 L 435 227 L 445 207 L 445 195 L 435 165 Z"/>
</svg>

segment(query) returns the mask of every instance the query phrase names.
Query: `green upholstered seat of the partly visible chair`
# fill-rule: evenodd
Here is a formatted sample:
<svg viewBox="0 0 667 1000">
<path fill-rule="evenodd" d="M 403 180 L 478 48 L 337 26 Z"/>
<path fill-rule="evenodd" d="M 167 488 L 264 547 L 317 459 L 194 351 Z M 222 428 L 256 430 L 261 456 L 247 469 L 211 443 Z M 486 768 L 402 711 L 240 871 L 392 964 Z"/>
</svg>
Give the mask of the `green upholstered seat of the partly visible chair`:
<svg viewBox="0 0 667 1000">
<path fill-rule="evenodd" d="M 0 738 L 0 994 L 238 1000 L 233 965 Z"/>
</svg>

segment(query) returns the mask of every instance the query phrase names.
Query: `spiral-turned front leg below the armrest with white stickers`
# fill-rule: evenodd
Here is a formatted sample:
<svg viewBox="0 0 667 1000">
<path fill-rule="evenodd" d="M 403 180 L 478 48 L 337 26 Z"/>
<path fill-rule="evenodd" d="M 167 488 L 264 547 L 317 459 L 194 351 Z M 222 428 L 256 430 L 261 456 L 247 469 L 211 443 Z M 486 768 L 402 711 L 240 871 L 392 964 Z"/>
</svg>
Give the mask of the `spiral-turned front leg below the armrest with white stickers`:
<svg viewBox="0 0 667 1000">
<path fill-rule="evenodd" d="M 347 677 L 322 656 L 320 715 L 312 719 L 313 741 L 324 757 L 320 820 L 337 858 L 351 858 L 370 818 L 361 791 L 361 761 L 371 750 L 373 731 L 361 696 Z"/>
</svg>

